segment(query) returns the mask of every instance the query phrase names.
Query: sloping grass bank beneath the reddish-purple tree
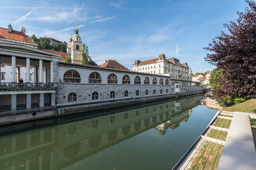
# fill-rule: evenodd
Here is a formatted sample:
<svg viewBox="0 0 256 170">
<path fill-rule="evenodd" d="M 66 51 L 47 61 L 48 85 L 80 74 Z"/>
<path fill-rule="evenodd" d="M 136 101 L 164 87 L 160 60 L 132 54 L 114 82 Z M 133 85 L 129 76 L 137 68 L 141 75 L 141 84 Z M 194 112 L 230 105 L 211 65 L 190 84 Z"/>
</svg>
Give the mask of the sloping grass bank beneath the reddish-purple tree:
<svg viewBox="0 0 256 170">
<path fill-rule="evenodd" d="M 223 111 L 241 111 L 246 113 L 256 113 L 256 99 L 250 99 L 239 103 L 235 106 L 230 106 L 222 109 Z"/>
</svg>

